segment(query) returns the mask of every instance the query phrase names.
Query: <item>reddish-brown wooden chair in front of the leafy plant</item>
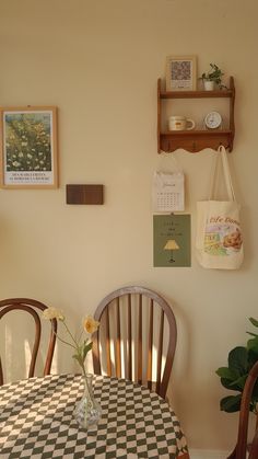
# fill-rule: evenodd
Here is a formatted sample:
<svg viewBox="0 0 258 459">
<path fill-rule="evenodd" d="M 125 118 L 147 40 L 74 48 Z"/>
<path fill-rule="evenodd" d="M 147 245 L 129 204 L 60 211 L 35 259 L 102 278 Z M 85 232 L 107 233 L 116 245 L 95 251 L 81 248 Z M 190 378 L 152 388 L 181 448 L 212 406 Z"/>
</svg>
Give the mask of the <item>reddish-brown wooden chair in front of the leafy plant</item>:
<svg viewBox="0 0 258 459">
<path fill-rule="evenodd" d="M 250 445 L 247 445 L 248 422 L 249 422 L 249 405 L 253 390 L 258 380 L 258 362 L 250 369 L 245 382 L 238 422 L 238 436 L 234 451 L 227 459 L 246 459 L 246 451 L 249 450 L 248 459 L 258 459 L 258 422 L 256 422 L 256 433 Z"/>
</svg>

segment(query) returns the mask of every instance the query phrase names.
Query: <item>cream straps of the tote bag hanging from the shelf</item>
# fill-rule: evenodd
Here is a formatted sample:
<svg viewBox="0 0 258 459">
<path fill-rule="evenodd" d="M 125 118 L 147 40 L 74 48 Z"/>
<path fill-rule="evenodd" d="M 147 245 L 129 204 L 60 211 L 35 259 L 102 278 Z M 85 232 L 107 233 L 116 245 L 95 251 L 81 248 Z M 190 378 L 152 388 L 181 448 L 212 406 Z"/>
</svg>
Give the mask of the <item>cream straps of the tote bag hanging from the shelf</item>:
<svg viewBox="0 0 258 459">
<path fill-rule="evenodd" d="M 216 174 L 218 174 L 218 163 L 220 159 L 222 160 L 222 168 L 223 168 L 223 174 L 224 174 L 228 199 L 236 200 L 234 188 L 233 188 L 233 183 L 232 183 L 232 177 L 231 177 L 231 172 L 230 172 L 230 167 L 228 167 L 228 161 L 227 161 L 227 154 L 226 154 L 225 147 L 223 146 L 219 147 L 218 152 L 213 159 L 212 169 L 211 169 L 209 199 L 214 198 L 214 186 L 215 186 Z"/>
</svg>

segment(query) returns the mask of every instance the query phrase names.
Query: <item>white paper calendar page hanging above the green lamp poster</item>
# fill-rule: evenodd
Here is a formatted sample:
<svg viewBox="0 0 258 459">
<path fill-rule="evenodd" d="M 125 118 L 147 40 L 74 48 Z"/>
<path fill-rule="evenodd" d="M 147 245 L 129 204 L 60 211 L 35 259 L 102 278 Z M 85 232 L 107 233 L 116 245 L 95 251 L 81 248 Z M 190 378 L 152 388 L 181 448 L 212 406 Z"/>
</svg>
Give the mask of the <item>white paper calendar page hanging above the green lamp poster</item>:
<svg viewBox="0 0 258 459">
<path fill-rule="evenodd" d="M 185 210 L 185 176 L 183 172 L 154 172 L 153 211 Z"/>
</svg>

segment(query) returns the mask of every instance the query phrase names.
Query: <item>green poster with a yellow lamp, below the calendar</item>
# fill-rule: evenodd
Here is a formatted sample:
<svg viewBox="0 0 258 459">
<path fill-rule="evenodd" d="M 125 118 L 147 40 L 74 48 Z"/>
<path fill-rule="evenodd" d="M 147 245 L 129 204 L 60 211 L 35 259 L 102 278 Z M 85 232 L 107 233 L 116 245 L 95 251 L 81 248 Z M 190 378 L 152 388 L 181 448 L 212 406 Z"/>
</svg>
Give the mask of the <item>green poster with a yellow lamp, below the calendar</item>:
<svg viewBox="0 0 258 459">
<path fill-rule="evenodd" d="M 190 215 L 153 216 L 154 266 L 190 266 Z"/>
</svg>

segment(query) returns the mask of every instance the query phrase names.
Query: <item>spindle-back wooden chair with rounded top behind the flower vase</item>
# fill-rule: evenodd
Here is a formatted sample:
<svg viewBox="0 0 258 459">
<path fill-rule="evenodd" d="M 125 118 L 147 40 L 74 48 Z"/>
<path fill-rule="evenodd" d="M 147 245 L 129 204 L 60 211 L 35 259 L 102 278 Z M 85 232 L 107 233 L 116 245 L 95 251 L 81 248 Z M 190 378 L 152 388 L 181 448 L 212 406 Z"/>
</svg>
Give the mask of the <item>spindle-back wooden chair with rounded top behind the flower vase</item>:
<svg viewBox="0 0 258 459">
<path fill-rule="evenodd" d="M 106 363 L 108 376 L 146 385 L 165 398 L 177 330 L 164 298 L 143 287 L 119 288 L 101 301 L 94 318 L 101 322 L 92 336 L 95 374 L 104 374 Z"/>
</svg>

